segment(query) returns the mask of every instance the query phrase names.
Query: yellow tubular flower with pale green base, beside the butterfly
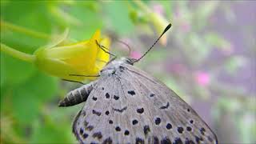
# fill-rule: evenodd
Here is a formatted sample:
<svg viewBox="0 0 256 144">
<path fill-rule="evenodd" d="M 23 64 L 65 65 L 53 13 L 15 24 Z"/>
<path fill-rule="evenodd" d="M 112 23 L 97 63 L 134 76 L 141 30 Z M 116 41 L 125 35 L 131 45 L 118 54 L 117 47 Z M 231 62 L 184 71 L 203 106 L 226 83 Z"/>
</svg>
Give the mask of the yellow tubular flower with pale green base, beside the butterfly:
<svg viewBox="0 0 256 144">
<path fill-rule="evenodd" d="M 100 38 L 100 31 L 97 30 L 87 41 L 38 49 L 34 53 L 35 64 L 40 70 L 62 79 L 78 82 L 94 80 L 94 77 L 70 74 L 94 76 L 106 65 L 110 55 L 104 52 L 96 41 L 106 48 L 110 46 L 110 39 Z"/>
</svg>

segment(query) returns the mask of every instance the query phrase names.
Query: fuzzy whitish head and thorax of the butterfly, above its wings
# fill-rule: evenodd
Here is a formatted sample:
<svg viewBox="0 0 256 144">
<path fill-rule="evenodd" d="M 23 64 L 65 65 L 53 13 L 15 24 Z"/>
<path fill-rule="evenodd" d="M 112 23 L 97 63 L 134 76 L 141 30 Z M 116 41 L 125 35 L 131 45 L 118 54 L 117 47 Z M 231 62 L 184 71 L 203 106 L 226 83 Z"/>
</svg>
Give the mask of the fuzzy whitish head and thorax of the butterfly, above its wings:
<svg viewBox="0 0 256 144">
<path fill-rule="evenodd" d="M 128 65 L 133 65 L 134 62 L 136 62 L 137 59 L 134 58 L 119 58 L 119 59 L 113 59 L 110 61 L 101 71 L 100 75 L 111 75 L 111 74 L 116 74 L 116 72 L 120 71 L 122 72 L 122 65 L 123 64 L 128 64 Z"/>
</svg>

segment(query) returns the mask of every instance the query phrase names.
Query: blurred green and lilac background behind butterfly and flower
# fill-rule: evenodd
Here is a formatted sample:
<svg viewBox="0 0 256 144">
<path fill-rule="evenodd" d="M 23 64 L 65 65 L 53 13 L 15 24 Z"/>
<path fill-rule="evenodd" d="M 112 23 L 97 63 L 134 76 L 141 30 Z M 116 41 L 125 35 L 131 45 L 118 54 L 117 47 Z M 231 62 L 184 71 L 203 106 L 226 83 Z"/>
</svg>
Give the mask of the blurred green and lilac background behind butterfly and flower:
<svg viewBox="0 0 256 144">
<path fill-rule="evenodd" d="M 152 13 L 173 27 L 137 66 L 190 103 L 220 143 L 255 143 L 256 2 L 2 0 L 1 42 L 33 54 L 66 27 L 77 41 L 101 29 L 138 58 L 165 24 Z M 114 39 L 111 51 L 127 56 Z M 1 52 L 1 143 L 76 142 L 71 123 L 84 103 L 58 101 L 78 86 Z"/>
</svg>

